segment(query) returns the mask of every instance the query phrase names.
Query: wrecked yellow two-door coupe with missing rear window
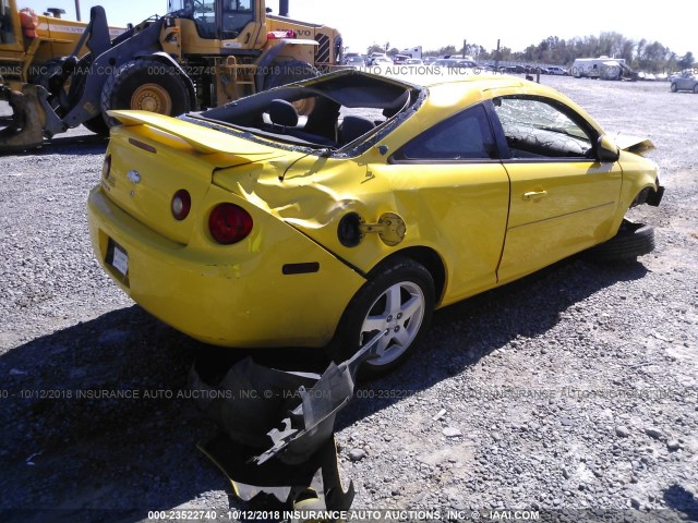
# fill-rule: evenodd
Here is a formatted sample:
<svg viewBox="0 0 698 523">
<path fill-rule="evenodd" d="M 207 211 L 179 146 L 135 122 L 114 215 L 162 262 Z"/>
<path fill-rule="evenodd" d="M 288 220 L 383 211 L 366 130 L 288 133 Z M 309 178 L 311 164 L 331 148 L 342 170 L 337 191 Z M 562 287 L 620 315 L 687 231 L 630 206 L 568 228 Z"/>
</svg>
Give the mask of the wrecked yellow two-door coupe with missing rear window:
<svg viewBox="0 0 698 523">
<path fill-rule="evenodd" d="M 298 107 L 304 108 L 299 115 Z M 366 375 L 434 308 L 582 250 L 634 258 L 657 166 L 514 77 L 417 86 L 341 71 L 168 118 L 112 111 L 92 243 L 136 303 L 207 343 L 327 348 Z M 623 142 L 623 143 L 622 143 Z"/>
</svg>

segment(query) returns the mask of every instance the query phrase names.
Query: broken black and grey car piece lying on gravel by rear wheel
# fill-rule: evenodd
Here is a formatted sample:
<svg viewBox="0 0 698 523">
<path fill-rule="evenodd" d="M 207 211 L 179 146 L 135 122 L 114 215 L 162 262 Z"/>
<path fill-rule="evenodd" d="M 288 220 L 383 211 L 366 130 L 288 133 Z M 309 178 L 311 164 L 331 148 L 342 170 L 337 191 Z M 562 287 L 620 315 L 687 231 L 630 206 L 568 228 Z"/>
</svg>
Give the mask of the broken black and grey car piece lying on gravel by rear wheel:
<svg viewBox="0 0 698 523">
<path fill-rule="evenodd" d="M 276 370 L 246 358 L 209 386 L 192 369 L 193 388 L 205 392 L 200 404 L 220 429 L 198 448 L 228 476 L 240 499 L 264 492 L 292 508 L 322 478 L 326 510 L 351 507 L 353 485 L 344 489 L 337 463 L 335 417 L 353 397 L 357 370 L 375 355 L 382 336 L 350 360 L 332 363 L 322 376 Z"/>
</svg>

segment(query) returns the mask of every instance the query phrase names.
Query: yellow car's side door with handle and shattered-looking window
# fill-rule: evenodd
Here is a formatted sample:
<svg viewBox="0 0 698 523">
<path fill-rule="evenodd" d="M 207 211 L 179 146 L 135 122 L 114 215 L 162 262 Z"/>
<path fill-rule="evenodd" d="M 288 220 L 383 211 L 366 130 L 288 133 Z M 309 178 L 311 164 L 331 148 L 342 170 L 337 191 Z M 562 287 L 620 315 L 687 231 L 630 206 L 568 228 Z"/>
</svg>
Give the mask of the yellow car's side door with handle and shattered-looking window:
<svg viewBox="0 0 698 523">
<path fill-rule="evenodd" d="M 597 132 L 564 104 L 539 96 L 494 98 L 512 183 L 501 282 L 599 243 L 610 231 L 622 171 L 593 158 Z"/>
</svg>

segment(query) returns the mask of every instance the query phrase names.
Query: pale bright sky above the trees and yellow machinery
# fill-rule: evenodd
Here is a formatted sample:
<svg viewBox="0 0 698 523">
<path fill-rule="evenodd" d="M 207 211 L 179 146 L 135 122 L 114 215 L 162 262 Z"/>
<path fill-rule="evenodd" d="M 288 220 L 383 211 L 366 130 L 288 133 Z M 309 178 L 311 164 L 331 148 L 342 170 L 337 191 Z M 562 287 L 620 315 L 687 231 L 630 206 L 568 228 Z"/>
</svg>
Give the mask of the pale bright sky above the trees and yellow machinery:
<svg viewBox="0 0 698 523">
<path fill-rule="evenodd" d="M 139 23 L 167 11 L 167 0 L 79 0 L 83 20 L 89 7 L 101 4 L 111 25 Z M 62 8 L 64 17 L 75 19 L 75 0 L 19 0 L 20 8 L 37 12 Z M 598 36 L 614 31 L 626 38 L 658 40 L 678 56 L 691 51 L 698 56 L 693 2 L 664 0 L 650 9 L 631 0 L 289 0 L 290 16 L 338 28 L 345 45 L 353 52 L 365 52 L 372 44 L 389 42 L 390 48 L 422 46 L 424 50 L 449 45 L 457 49 L 479 44 L 494 49 L 502 46 L 524 50 L 549 36 L 571 38 Z M 690 8 L 688 7 L 690 5 Z M 278 12 L 278 1 L 267 7 Z"/>
</svg>

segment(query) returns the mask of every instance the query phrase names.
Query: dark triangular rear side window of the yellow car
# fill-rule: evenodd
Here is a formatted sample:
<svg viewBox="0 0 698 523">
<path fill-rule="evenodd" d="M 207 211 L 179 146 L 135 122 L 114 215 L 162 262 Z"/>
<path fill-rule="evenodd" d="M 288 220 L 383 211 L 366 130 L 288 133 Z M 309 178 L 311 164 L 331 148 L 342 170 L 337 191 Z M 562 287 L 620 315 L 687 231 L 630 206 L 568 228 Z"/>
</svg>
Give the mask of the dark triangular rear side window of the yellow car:
<svg viewBox="0 0 698 523">
<path fill-rule="evenodd" d="M 393 157 L 397 161 L 467 161 L 496 158 L 494 135 L 484 107 L 480 105 L 424 131 Z"/>
</svg>

